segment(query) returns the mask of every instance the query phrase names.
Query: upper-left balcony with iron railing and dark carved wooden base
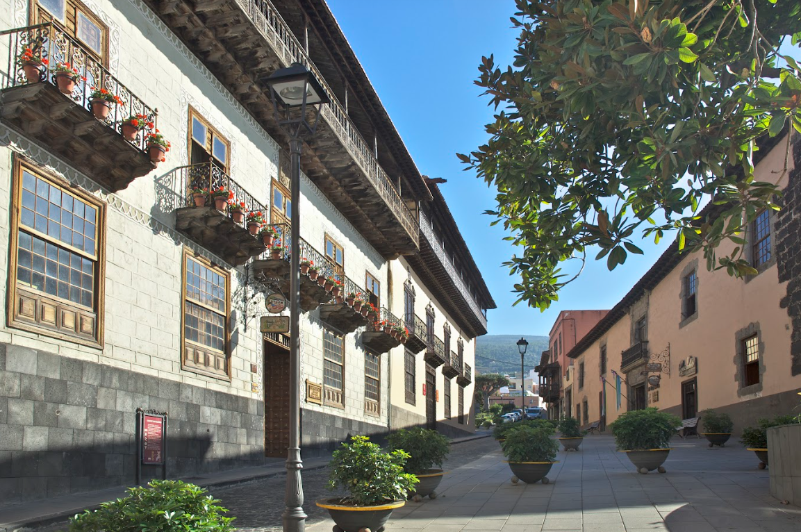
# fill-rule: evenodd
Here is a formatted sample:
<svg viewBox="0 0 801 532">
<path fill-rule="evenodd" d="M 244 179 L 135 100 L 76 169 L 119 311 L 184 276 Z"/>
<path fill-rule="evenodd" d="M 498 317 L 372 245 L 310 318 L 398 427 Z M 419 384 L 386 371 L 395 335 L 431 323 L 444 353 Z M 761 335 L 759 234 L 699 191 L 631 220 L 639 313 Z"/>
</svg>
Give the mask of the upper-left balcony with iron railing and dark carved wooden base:
<svg viewBox="0 0 801 532">
<path fill-rule="evenodd" d="M 0 111 L 4 123 L 112 192 L 155 168 L 145 151 L 143 132 L 128 141 L 122 125 L 131 115 L 143 115 L 155 123 L 156 111 L 95 61 L 83 44 L 49 23 L 5 30 L 0 38 L 0 46 L 9 52 Z M 38 79 L 33 75 L 29 81 L 23 71 L 19 57 L 26 49 L 42 62 Z M 59 91 L 56 82 L 54 69 L 61 63 L 69 63 L 80 76 L 68 95 Z M 122 102 L 112 103 L 105 119 L 91 112 L 93 87 L 106 89 Z"/>
</svg>

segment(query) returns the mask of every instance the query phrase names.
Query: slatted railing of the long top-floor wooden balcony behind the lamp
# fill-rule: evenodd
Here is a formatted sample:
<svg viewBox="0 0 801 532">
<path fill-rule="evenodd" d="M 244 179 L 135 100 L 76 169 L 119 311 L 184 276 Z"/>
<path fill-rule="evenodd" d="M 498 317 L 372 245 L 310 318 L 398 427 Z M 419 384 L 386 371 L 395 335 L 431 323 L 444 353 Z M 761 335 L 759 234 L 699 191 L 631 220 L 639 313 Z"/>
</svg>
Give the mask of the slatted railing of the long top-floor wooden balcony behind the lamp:
<svg viewBox="0 0 801 532">
<path fill-rule="evenodd" d="M 312 59 L 304 50 L 295 34 L 292 33 L 288 24 L 284 22 L 276 7 L 268 0 L 236 0 L 239 6 L 252 19 L 253 24 L 264 35 L 273 47 L 284 59 L 284 63 L 289 65 L 292 62 L 300 62 L 307 67 L 320 81 L 323 90 L 331 99 L 331 103 L 323 106 L 323 118 L 332 126 L 340 141 L 348 148 L 353 159 L 367 175 L 372 186 L 376 188 L 384 202 L 390 206 L 392 212 L 397 216 L 400 224 L 406 232 L 413 236 L 415 243 L 418 243 L 419 228 L 415 216 L 406 207 L 400 192 L 392 184 L 392 180 L 383 168 L 378 164 L 375 153 L 370 148 L 356 126 L 348 118 L 342 104 L 336 99 L 334 91 L 325 82 L 323 75 L 317 69 Z"/>
</svg>

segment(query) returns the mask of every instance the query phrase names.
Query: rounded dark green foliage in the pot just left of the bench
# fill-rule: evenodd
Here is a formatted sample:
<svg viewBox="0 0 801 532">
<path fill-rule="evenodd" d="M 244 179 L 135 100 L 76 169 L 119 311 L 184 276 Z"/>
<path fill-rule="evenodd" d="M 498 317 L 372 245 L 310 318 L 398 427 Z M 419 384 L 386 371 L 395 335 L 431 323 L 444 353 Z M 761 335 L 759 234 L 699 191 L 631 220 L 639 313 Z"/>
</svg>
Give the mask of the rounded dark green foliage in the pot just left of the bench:
<svg viewBox="0 0 801 532">
<path fill-rule="evenodd" d="M 672 413 L 647 408 L 622 414 L 610 425 L 610 429 L 618 449 L 665 449 L 670 445 L 670 437 L 676 433 L 676 427 L 681 424 L 682 420 Z"/>
</svg>

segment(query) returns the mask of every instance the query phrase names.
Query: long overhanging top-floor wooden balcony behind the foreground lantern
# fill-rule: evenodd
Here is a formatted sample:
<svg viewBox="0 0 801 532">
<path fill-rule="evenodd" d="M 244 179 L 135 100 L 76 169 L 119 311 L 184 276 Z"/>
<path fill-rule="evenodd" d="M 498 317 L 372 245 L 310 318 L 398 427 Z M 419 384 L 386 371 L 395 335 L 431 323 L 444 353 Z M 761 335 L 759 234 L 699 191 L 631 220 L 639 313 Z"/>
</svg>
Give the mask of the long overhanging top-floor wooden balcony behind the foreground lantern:
<svg viewBox="0 0 801 532">
<path fill-rule="evenodd" d="M 301 167 L 365 239 L 386 258 L 419 249 L 417 216 L 380 167 L 304 46 L 268 0 L 145 0 L 231 94 L 275 139 L 276 123 L 262 80 L 292 62 L 307 66 L 332 99 Z M 409 201 L 413 198 L 409 197 Z"/>
</svg>

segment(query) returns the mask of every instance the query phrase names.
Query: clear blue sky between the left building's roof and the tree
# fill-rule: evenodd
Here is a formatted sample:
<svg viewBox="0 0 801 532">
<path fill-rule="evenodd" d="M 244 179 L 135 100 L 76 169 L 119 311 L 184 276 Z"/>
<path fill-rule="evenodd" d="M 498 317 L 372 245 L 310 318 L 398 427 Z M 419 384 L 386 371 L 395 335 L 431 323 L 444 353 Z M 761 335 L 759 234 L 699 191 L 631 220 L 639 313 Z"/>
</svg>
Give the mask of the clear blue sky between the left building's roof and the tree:
<svg viewBox="0 0 801 532">
<path fill-rule="evenodd" d="M 486 142 L 493 109 L 473 84 L 482 55 L 511 64 L 517 32 L 510 26 L 511 0 L 328 0 L 345 36 L 387 108 L 421 173 L 448 179 L 441 191 L 493 294 L 489 334 L 547 335 L 562 310 L 612 308 L 670 245 L 638 243 L 644 256 L 606 269 L 588 260 L 582 276 L 560 292 L 545 312 L 525 303 L 512 307 L 515 277 L 501 266 L 515 252 L 500 225 L 481 214 L 495 207 L 494 193 L 472 171 L 463 171 L 457 152 Z M 798 57 L 798 49 L 785 46 Z M 589 255 L 589 254 L 588 254 Z M 592 254 L 594 256 L 594 254 Z"/>
</svg>

